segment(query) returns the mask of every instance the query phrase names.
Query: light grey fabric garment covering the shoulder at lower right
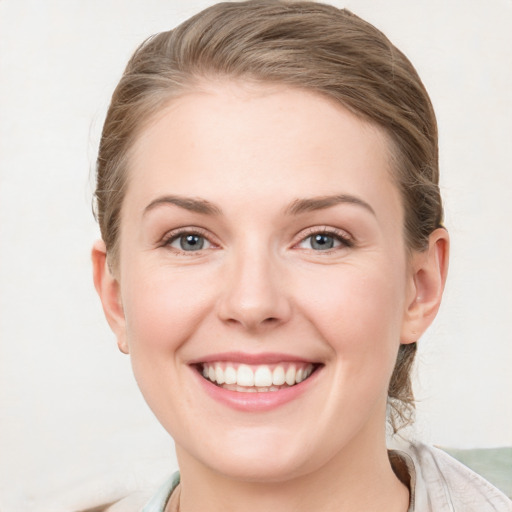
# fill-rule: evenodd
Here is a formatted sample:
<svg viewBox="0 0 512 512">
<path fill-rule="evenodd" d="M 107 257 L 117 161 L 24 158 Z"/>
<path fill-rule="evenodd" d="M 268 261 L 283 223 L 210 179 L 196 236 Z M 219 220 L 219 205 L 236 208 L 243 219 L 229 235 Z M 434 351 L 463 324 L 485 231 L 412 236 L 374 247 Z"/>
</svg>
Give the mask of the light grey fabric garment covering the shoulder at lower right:
<svg viewBox="0 0 512 512">
<path fill-rule="evenodd" d="M 512 512 L 512 501 L 446 452 L 422 443 L 404 451 L 414 464 L 416 512 Z"/>
</svg>

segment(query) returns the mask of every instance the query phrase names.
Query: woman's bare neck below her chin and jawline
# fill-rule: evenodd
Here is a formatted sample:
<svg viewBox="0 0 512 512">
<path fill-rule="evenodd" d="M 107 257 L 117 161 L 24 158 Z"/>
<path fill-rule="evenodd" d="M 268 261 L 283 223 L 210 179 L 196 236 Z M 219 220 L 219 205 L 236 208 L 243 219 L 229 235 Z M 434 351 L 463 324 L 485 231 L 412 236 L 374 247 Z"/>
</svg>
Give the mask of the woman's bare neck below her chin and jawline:
<svg viewBox="0 0 512 512">
<path fill-rule="evenodd" d="M 322 467 L 280 481 L 242 481 L 213 471 L 177 446 L 180 512 L 406 512 L 409 491 L 395 476 L 385 439 L 354 440 Z"/>
</svg>

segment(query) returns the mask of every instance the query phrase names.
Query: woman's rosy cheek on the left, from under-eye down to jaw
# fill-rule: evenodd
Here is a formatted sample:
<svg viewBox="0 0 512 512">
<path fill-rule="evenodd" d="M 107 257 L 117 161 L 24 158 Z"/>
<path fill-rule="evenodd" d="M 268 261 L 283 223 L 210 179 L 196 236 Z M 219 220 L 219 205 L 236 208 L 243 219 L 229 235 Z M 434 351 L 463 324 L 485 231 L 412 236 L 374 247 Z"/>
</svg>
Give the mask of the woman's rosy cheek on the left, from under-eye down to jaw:
<svg viewBox="0 0 512 512">
<path fill-rule="evenodd" d="M 188 378 L 183 374 L 180 348 L 214 304 L 212 288 L 206 288 L 205 282 L 204 272 L 198 269 L 177 272 L 165 266 L 126 266 L 122 295 L 133 373 L 148 405 L 171 433 L 187 421 L 186 417 L 178 421 L 173 411 L 193 407 L 180 391 L 179 383 Z"/>
</svg>

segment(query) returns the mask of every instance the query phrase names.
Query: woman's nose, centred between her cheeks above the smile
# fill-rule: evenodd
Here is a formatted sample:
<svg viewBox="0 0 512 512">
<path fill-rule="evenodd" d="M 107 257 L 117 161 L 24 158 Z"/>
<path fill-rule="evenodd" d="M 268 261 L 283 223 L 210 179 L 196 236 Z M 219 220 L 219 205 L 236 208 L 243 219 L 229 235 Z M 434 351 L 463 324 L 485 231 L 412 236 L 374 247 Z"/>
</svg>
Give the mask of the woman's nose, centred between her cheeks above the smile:
<svg viewBox="0 0 512 512">
<path fill-rule="evenodd" d="M 219 318 L 248 331 L 286 323 L 292 307 L 283 275 L 269 251 L 248 250 L 226 262 L 218 301 Z"/>
</svg>

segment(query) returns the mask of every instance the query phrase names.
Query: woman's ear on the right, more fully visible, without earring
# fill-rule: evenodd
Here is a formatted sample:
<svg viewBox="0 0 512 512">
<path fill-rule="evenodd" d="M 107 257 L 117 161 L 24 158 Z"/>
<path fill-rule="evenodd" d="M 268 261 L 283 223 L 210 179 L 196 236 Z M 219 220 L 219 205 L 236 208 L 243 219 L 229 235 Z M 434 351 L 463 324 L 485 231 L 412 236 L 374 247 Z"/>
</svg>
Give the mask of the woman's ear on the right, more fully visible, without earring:
<svg viewBox="0 0 512 512">
<path fill-rule="evenodd" d="M 402 344 L 418 341 L 439 310 L 448 273 L 449 246 L 448 232 L 438 228 L 429 237 L 428 249 L 416 251 L 411 257 Z"/>
</svg>

